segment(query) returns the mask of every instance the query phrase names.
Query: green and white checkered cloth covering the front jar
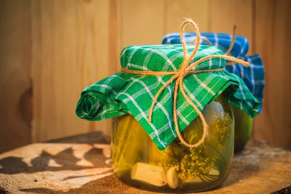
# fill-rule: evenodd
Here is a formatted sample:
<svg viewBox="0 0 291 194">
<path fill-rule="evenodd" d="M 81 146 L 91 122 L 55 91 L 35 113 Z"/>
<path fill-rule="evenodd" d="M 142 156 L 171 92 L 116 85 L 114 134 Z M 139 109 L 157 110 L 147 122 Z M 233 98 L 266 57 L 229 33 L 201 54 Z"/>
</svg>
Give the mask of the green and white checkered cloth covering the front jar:
<svg viewBox="0 0 291 194">
<path fill-rule="evenodd" d="M 194 45 L 187 45 L 188 54 Z M 191 63 L 205 56 L 224 52 L 215 46 L 199 46 Z M 183 62 L 182 45 L 130 46 L 122 50 L 120 63 L 124 68 L 143 71 L 178 71 Z M 190 63 L 190 64 L 191 64 Z M 226 60 L 211 58 L 196 65 L 192 70 L 223 68 Z M 173 96 L 175 81 L 169 84 L 158 97 L 153 109 L 152 122 L 148 113 L 153 98 L 172 75 L 144 76 L 119 72 L 85 88 L 77 103 L 76 113 L 85 120 L 98 121 L 126 113 L 133 115 L 146 130 L 160 150 L 165 149 L 176 137 L 173 122 Z M 188 74 L 183 80 L 188 97 L 202 111 L 222 92 L 230 103 L 249 116 L 258 114 L 259 101 L 250 93 L 244 82 L 236 75 L 222 72 Z M 196 117 L 194 108 L 181 92 L 177 97 L 177 115 L 180 131 Z"/>
</svg>

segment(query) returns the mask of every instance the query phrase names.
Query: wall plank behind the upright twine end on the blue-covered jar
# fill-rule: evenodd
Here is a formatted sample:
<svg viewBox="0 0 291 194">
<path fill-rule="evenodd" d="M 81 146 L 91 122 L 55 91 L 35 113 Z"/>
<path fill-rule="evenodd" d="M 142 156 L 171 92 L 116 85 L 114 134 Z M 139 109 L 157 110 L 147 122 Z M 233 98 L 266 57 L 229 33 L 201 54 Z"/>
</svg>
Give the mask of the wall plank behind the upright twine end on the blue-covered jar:
<svg viewBox="0 0 291 194">
<path fill-rule="evenodd" d="M 253 54 L 253 0 L 209 0 L 210 32 L 232 33 L 245 36 L 250 43 L 248 54 Z"/>
</svg>

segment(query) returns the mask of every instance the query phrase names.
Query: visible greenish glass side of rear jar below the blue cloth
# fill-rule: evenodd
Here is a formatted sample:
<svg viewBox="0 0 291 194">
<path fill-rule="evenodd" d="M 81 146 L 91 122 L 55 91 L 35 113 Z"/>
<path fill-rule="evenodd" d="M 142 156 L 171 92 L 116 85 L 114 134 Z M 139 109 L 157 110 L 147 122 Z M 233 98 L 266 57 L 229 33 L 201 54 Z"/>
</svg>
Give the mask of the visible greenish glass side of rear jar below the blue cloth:
<svg viewBox="0 0 291 194">
<path fill-rule="evenodd" d="M 234 152 L 240 152 L 252 135 L 254 119 L 232 104 L 230 108 L 235 119 Z"/>
</svg>

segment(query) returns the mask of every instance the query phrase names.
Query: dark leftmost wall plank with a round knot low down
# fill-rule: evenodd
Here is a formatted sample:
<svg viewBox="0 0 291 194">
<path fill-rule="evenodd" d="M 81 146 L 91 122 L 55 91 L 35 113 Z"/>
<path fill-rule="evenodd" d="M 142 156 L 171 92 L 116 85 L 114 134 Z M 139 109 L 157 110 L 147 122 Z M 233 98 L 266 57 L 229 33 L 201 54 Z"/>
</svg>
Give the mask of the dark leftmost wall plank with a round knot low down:
<svg viewBox="0 0 291 194">
<path fill-rule="evenodd" d="M 0 1 L 0 153 L 31 143 L 29 0 Z"/>
</svg>

